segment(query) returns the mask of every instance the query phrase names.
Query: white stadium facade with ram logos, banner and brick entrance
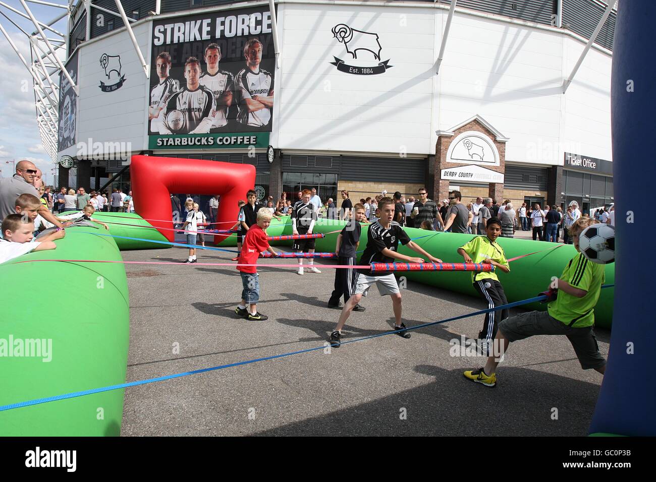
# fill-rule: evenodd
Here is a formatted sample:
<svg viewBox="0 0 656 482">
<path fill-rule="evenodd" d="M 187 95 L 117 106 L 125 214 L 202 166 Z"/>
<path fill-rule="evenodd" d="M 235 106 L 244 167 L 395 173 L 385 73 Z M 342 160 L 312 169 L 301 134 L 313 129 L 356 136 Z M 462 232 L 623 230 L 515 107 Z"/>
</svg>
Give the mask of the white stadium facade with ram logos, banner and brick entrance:
<svg viewBox="0 0 656 482">
<path fill-rule="evenodd" d="M 58 98 L 34 77 L 44 146 L 55 163 L 73 159 L 59 185 L 127 190 L 126 159 L 146 154 L 253 164 L 260 194 L 276 199 L 306 187 L 338 201 L 340 190 L 359 200 L 426 186 L 432 199 L 460 190 L 466 202 L 612 203 L 615 2 L 453 3 L 72 2 Z M 35 39 L 33 64 L 51 58 Z M 213 107 L 192 97 L 190 57 Z M 169 77 L 190 100 L 161 93 Z M 192 111 L 223 120 L 192 129 Z"/>
</svg>

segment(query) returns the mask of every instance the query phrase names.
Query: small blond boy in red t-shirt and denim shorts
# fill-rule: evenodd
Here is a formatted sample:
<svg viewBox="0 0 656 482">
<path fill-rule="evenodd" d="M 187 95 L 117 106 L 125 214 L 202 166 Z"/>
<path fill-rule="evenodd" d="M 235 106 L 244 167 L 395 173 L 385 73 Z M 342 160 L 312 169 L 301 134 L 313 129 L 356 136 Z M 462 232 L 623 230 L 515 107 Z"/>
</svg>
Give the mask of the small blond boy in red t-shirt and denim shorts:
<svg viewBox="0 0 656 482">
<path fill-rule="evenodd" d="M 266 228 L 271 224 L 272 212 L 268 209 L 260 209 L 257 212 L 257 224 L 251 226 L 246 231 L 239 260 L 237 261 L 237 270 L 241 271 L 241 302 L 235 309 L 237 315 L 247 318 L 250 321 L 264 321 L 268 316 L 262 315 L 257 311 L 257 302 L 260 299 L 260 281 L 257 276 L 256 266 L 241 266 L 242 264 L 256 264 L 260 252 L 268 251 L 271 254 L 277 254 L 269 242 L 266 240 Z M 250 304 L 250 310 L 246 305 Z"/>
</svg>

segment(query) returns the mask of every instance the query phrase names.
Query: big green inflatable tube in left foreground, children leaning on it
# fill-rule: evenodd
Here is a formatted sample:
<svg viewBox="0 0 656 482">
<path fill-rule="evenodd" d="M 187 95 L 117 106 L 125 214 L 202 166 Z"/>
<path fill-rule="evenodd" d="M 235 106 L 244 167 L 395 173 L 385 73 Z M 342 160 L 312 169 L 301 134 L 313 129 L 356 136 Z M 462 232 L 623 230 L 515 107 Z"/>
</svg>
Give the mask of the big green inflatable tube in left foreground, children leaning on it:
<svg viewBox="0 0 656 482">
<path fill-rule="evenodd" d="M 0 292 L 0 405 L 125 382 L 129 304 L 123 264 L 22 262 L 121 260 L 113 239 L 92 235 L 98 232 L 69 228 L 66 237 L 56 241 L 55 250 L 0 264 L 0 283 L 16 286 L 16 290 Z M 43 285 L 43 279 L 52 279 L 53 274 L 58 286 Z M 119 435 L 123 392 L 112 390 L 2 411 L 0 435 Z"/>
</svg>

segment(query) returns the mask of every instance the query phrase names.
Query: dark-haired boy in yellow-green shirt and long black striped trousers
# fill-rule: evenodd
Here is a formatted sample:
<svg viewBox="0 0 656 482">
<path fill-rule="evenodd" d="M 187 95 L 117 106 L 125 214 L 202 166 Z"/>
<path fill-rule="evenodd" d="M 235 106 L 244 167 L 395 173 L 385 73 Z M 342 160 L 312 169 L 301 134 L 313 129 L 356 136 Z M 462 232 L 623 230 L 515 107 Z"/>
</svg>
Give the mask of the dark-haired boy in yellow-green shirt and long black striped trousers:
<svg viewBox="0 0 656 482">
<path fill-rule="evenodd" d="M 466 263 L 491 264 L 496 268 L 510 272 L 510 265 L 506 260 L 503 248 L 497 243 L 497 237 L 501 235 L 501 221 L 499 218 L 489 218 L 485 228 L 485 236 L 476 236 L 466 245 L 458 249 L 458 254 L 464 258 Z M 487 301 L 488 308 L 508 304 L 506 294 L 503 291 L 497 273 L 494 271 L 480 271 L 472 273 L 474 289 L 478 291 L 483 299 Z M 482 353 L 487 355 L 488 349 L 497 334 L 497 327 L 502 319 L 508 317 L 508 310 L 497 310 L 485 313 L 483 329 L 478 333 Z"/>
</svg>

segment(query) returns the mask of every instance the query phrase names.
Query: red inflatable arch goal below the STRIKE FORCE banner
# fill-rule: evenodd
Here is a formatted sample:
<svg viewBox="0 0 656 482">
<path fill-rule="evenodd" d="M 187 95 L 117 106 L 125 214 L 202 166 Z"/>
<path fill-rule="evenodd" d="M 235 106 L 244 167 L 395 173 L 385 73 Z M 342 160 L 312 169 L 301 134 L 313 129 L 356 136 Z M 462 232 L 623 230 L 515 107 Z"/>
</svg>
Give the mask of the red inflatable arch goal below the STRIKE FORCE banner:
<svg viewBox="0 0 656 482">
<path fill-rule="evenodd" d="M 255 186 L 255 166 L 201 159 L 176 159 L 152 155 L 133 155 L 130 164 L 134 210 L 142 218 L 150 219 L 155 228 L 173 241 L 171 193 L 221 195 L 216 222 L 224 223 L 210 229 L 227 230 L 230 222 L 237 222 L 239 199 L 246 199 L 246 191 Z M 183 208 L 184 209 L 184 208 Z M 180 213 L 182 216 L 182 213 Z M 154 221 L 171 220 L 170 222 Z M 183 220 L 184 221 L 184 220 Z M 215 236 L 217 242 L 224 236 Z"/>
</svg>

